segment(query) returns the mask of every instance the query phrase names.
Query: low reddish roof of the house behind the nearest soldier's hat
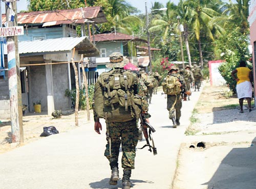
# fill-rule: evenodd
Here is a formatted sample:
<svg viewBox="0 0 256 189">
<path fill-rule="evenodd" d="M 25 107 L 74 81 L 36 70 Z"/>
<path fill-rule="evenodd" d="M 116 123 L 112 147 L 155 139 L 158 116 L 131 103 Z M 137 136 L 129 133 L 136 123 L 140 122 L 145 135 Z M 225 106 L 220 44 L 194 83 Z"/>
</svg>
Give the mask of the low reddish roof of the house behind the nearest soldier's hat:
<svg viewBox="0 0 256 189">
<path fill-rule="evenodd" d="M 95 41 L 142 41 L 147 42 L 144 39 L 139 37 L 133 37 L 131 35 L 123 34 L 123 33 L 104 33 L 104 34 L 96 34 Z M 91 41 L 93 41 L 93 37 L 91 37 Z"/>
</svg>

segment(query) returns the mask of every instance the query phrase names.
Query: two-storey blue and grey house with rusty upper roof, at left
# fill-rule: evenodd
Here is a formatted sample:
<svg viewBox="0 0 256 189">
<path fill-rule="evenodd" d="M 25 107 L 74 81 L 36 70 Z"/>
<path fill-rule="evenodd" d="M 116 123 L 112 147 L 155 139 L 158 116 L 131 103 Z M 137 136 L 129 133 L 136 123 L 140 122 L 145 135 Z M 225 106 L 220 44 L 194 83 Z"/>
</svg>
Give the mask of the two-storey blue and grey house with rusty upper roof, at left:
<svg viewBox="0 0 256 189">
<path fill-rule="evenodd" d="M 73 55 L 75 61 L 80 61 L 81 55 L 89 59 L 99 56 L 99 51 L 90 40 L 91 32 L 86 29 L 91 23 L 106 21 L 102 8 L 18 13 L 17 18 L 18 26 L 25 28 L 25 34 L 18 37 L 19 62 L 23 70 L 20 74 L 23 104 L 33 112 L 33 104 L 41 101 L 41 111 L 49 115 L 54 109 L 70 109 L 71 100 L 65 96 L 65 90 L 74 87 L 75 80 L 73 67 L 68 62 Z M 6 16 L 3 15 L 2 19 L 4 23 Z M 78 25 L 81 26 L 82 37 L 76 37 Z M 85 36 L 86 32 L 88 36 Z M 10 115 L 7 47 L 4 53 L 6 63 L 0 69 L 5 76 L 0 77 L 2 119 Z M 88 75 L 90 69 L 97 66 L 96 61 L 89 63 Z"/>
</svg>

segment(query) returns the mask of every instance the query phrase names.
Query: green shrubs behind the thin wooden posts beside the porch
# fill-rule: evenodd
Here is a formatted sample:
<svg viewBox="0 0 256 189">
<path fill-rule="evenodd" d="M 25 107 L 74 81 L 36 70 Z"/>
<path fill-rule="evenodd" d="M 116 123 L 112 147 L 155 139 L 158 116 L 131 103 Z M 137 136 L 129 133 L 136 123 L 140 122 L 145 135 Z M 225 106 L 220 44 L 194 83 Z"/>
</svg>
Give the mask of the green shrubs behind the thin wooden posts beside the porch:
<svg viewBox="0 0 256 189">
<path fill-rule="evenodd" d="M 93 96 L 94 96 L 94 85 L 88 86 L 88 97 L 89 97 L 89 106 L 90 109 L 92 109 L 93 105 Z M 70 97 L 72 101 L 73 107 L 75 106 L 76 103 L 76 89 L 66 89 L 65 90 L 65 96 Z M 87 99 L 86 99 L 86 87 L 82 87 L 79 89 L 79 106 L 78 108 L 81 110 L 86 110 L 87 107 Z"/>
</svg>

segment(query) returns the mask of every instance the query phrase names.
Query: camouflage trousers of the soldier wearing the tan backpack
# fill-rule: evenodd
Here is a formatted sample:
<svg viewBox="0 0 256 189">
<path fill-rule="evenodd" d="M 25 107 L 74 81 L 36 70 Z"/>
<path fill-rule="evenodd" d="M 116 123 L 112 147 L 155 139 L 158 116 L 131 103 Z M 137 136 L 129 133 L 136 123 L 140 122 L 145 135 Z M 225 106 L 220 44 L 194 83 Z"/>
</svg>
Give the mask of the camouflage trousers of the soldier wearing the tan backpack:
<svg viewBox="0 0 256 189">
<path fill-rule="evenodd" d="M 167 110 L 169 111 L 169 119 L 181 117 L 182 98 L 181 95 L 167 95 Z"/>
</svg>

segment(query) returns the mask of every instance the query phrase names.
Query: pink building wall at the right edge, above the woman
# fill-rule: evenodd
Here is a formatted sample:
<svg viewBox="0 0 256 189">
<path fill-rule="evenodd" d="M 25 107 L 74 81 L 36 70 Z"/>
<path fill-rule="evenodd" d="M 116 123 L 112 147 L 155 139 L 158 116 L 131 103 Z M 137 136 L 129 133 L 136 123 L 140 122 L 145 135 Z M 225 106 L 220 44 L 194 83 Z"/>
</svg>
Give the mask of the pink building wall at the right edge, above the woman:
<svg viewBox="0 0 256 189">
<path fill-rule="evenodd" d="M 256 64 L 256 0 L 251 0 L 249 7 L 248 21 L 250 24 L 250 41 L 252 45 L 252 61 L 253 61 L 253 82 L 256 84 L 255 64 Z M 254 94 L 256 94 L 256 87 L 254 87 Z M 255 99 L 255 97 L 254 97 Z"/>
</svg>

